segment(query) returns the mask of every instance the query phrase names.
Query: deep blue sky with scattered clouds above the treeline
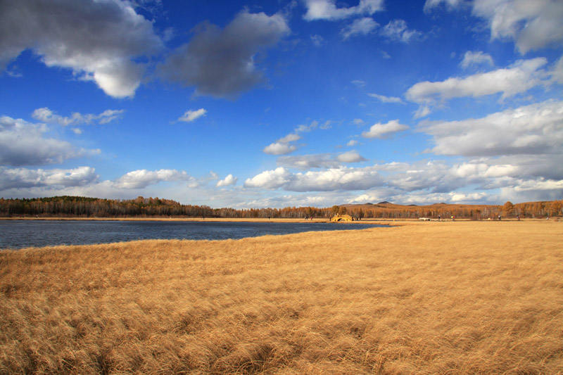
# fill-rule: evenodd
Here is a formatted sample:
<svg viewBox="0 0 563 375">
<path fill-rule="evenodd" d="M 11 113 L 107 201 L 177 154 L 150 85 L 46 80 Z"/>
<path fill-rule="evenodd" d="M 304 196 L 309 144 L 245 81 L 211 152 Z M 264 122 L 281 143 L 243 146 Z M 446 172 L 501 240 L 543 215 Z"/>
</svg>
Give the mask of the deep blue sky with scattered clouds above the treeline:
<svg viewBox="0 0 563 375">
<path fill-rule="evenodd" d="M 0 196 L 563 198 L 563 2 L 0 0 Z"/>
</svg>

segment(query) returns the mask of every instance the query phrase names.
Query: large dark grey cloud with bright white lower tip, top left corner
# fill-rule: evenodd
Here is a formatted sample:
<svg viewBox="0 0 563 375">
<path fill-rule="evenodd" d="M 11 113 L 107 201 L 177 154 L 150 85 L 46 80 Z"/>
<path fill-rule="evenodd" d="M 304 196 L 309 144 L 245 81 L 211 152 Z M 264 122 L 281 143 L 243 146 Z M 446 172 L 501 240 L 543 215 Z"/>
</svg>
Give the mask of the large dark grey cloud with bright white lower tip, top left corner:
<svg viewBox="0 0 563 375">
<path fill-rule="evenodd" d="M 133 96 L 144 75 L 137 56 L 162 48 L 129 1 L 27 0 L 0 3 L 0 70 L 25 49 L 49 67 L 69 68 L 109 96 Z"/>
</svg>

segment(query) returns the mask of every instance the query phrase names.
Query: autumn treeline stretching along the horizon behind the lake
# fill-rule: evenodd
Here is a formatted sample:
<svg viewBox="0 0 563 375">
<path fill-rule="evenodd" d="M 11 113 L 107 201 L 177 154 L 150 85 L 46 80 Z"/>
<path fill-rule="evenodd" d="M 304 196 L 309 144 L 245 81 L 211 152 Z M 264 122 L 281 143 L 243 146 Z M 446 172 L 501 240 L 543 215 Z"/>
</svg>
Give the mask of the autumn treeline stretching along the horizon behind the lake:
<svg viewBox="0 0 563 375">
<path fill-rule="evenodd" d="M 0 198 L 0 216 L 4 217 L 224 217 L 224 218 L 329 218 L 337 213 L 359 219 L 433 219 L 487 220 L 501 217 L 563 216 L 563 201 L 542 201 L 504 205 L 335 205 L 331 208 L 210 208 L 207 205 L 182 205 L 177 201 L 139 196 L 131 200 L 99 199 L 80 196 L 51 198 Z"/>
</svg>

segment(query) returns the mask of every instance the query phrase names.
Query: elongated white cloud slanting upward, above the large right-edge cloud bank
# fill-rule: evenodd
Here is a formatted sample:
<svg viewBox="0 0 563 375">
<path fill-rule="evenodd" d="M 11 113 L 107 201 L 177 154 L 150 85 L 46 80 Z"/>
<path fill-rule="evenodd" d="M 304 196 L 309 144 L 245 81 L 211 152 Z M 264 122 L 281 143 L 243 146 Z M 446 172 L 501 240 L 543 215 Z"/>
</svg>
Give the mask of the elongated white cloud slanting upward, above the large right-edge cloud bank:
<svg viewBox="0 0 563 375">
<path fill-rule="evenodd" d="M 507 98 L 525 92 L 543 80 L 545 72 L 540 70 L 547 63 L 545 58 L 517 61 L 510 68 L 479 73 L 466 78 L 448 78 L 442 82 L 419 82 L 407 90 L 405 96 L 415 103 L 434 103 L 464 96 L 485 96 L 502 92 Z"/>
</svg>

